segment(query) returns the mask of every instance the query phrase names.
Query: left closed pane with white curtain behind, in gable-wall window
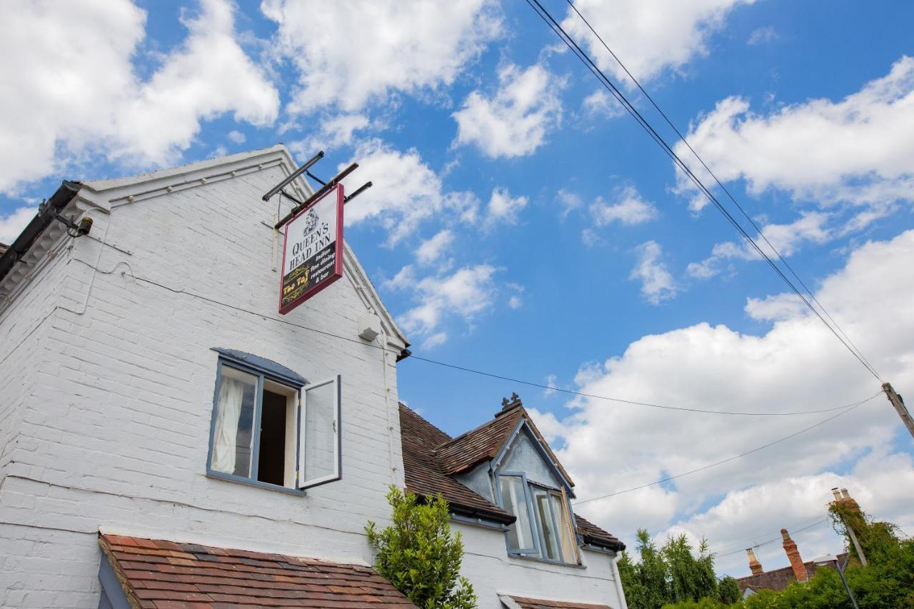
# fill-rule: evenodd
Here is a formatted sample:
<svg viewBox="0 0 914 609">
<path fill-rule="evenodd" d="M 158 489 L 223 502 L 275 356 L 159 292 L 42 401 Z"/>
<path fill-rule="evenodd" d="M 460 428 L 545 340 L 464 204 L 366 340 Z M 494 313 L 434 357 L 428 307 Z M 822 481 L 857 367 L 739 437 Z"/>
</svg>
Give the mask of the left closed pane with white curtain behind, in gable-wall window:
<svg viewBox="0 0 914 609">
<path fill-rule="evenodd" d="M 210 464 L 214 471 L 250 477 L 256 394 L 257 377 L 222 366 Z"/>
</svg>

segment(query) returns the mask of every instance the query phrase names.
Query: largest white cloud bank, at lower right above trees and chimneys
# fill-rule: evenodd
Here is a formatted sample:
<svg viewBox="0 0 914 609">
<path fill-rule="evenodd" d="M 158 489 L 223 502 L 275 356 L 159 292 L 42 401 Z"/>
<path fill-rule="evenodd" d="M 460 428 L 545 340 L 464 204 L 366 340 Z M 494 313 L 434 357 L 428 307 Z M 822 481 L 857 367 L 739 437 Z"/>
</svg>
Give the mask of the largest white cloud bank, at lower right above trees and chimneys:
<svg viewBox="0 0 914 609">
<path fill-rule="evenodd" d="M 914 230 L 867 243 L 816 293 L 896 388 L 914 385 L 912 257 Z M 880 289 L 887 284 L 894 289 Z M 785 299 L 779 294 L 769 303 L 784 305 Z M 777 447 L 662 486 L 581 504 L 576 511 L 626 541 L 639 527 L 661 540 L 666 532 L 685 530 L 693 539 L 707 535 L 714 549 L 741 550 L 751 545 L 745 538 L 777 537 L 781 527 L 824 518 L 829 489 L 846 486 L 877 518 L 914 525 L 911 456 L 893 452 L 893 437 L 903 438 L 902 445 L 909 440 L 878 394 L 878 382 L 817 318 L 783 306 L 772 311 L 778 321 L 759 336 L 700 323 L 641 337 L 618 357 L 583 365 L 576 389 L 729 411 L 807 411 L 875 399 Z M 715 463 L 834 415 L 738 418 L 589 398 L 568 405 L 553 433 L 566 443 L 558 457 L 577 483 L 579 499 Z M 803 531 L 798 543 L 809 559 L 841 550 L 842 540 L 822 527 Z M 765 552 L 760 558 L 766 568 L 787 564 L 780 544 Z M 719 561 L 718 568 L 748 572 L 739 553 Z"/>
</svg>

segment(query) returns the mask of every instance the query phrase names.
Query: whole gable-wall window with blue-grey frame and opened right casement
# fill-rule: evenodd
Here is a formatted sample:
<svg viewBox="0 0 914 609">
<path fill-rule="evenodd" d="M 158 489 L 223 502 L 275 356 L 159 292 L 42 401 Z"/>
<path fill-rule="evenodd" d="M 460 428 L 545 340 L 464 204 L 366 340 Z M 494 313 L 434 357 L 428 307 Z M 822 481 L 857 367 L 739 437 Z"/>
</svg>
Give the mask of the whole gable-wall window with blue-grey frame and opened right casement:
<svg viewBox="0 0 914 609">
<path fill-rule="evenodd" d="M 340 378 L 289 373 L 219 358 L 208 474 L 299 490 L 340 478 Z"/>
</svg>

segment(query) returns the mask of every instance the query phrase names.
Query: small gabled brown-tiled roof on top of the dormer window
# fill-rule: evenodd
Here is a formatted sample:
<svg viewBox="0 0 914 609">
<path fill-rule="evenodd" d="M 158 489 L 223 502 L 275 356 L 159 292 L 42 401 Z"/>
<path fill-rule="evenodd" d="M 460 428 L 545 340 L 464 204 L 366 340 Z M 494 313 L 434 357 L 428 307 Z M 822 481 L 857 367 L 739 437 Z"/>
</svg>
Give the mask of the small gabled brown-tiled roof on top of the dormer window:
<svg viewBox="0 0 914 609">
<path fill-rule="evenodd" d="M 473 431 L 463 433 L 439 446 L 436 455 L 444 472 L 448 475 L 459 474 L 471 469 L 473 465 L 488 459 L 494 459 L 505 447 L 509 436 L 515 431 L 517 423 L 522 419 L 527 422 L 539 442 L 546 448 L 553 465 L 556 465 L 562 475 L 565 476 L 565 479 L 569 481 L 569 484 L 574 486 L 574 483 L 571 482 L 571 476 L 558 463 L 558 458 L 552 453 L 552 449 L 549 448 L 546 440 L 539 433 L 537 426 L 530 419 L 530 415 L 527 414 L 519 400 L 505 405 L 502 411 L 495 414 L 492 421 L 484 422 Z"/>
</svg>

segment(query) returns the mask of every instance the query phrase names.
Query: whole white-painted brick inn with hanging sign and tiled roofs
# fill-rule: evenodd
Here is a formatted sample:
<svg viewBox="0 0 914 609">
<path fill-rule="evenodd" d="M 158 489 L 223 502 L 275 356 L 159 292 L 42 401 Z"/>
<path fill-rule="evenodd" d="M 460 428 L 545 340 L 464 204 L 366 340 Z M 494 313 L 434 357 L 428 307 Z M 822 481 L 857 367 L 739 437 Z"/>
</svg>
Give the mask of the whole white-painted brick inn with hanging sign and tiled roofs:
<svg viewBox="0 0 914 609">
<path fill-rule="evenodd" d="M 480 607 L 624 607 L 516 396 L 455 438 L 399 404 L 342 187 L 261 198 L 294 170 L 65 181 L 0 247 L 0 606 L 409 607 L 365 534 L 394 484 L 448 499 Z"/>
</svg>

